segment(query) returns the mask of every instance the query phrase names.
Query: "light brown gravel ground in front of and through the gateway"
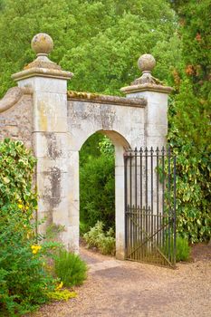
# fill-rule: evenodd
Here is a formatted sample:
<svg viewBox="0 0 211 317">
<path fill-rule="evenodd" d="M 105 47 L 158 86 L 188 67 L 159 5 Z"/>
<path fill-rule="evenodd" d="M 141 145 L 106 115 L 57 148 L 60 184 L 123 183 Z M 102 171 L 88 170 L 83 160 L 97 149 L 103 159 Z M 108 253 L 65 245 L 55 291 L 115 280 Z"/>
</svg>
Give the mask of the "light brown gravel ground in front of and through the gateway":
<svg viewBox="0 0 211 317">
<path fill-rule="evenodd" d="M 44 305 L 33 317 L 210 317 L 211 246 L 197 245 L 177 269 L 117 261 L 81 248 L 87 281 L 66 303 Z"/>
</svg>

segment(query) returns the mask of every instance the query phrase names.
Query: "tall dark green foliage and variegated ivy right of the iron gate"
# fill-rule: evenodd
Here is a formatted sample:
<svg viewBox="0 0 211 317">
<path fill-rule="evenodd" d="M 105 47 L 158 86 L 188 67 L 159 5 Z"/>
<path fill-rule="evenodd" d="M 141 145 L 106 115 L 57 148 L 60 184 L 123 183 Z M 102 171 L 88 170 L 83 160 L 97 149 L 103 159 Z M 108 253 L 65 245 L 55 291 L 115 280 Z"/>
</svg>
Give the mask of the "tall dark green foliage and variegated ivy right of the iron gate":
<svg viewBox="0 0 211 317">
<path fill-rule="evenodd" d="M 168 140 L 177 154 L 178 233 L 191 242 L 211 235 L 210 2 L 174 1 L 184 69 L 169 109 Z"/>
</svg>

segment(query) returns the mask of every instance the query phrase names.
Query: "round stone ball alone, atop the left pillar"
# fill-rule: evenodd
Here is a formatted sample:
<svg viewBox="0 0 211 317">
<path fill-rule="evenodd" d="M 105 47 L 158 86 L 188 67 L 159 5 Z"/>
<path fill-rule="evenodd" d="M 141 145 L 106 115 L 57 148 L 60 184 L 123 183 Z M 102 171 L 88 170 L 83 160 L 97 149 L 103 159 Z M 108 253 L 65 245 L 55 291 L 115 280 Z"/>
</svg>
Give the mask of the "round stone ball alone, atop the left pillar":
<svg viewBox="0 0 211 317">
<path fill-rule="evenodd" d="M 47 55 L 53 50 L 53 39 L 48 34 L 39 33 L 34 35 L 31 46 L 38 56 Z"/>
</svg>

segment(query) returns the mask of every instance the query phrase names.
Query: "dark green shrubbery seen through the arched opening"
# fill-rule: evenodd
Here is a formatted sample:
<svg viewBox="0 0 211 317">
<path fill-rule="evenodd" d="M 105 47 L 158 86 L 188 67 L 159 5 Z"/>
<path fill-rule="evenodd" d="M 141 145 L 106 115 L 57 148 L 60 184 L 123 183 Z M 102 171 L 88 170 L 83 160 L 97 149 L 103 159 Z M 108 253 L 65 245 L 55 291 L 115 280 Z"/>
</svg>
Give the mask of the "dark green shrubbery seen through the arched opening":
<svg viewBox="0 0 211 317">
<path fill-rule="evenodd" d="M 89 149 L 88 141 L 81 154 Z M 96 147 L 96 145 L 95 145 Z M 109 139 L 101 139 L 96 156 L 90 156 L 80 169 L 80 216 L 85 231 L 101 220 L 106 228 L 115 226 L 114 156 Z M 101 155 L 100 155 L 101 154 Z"/>
</svg>

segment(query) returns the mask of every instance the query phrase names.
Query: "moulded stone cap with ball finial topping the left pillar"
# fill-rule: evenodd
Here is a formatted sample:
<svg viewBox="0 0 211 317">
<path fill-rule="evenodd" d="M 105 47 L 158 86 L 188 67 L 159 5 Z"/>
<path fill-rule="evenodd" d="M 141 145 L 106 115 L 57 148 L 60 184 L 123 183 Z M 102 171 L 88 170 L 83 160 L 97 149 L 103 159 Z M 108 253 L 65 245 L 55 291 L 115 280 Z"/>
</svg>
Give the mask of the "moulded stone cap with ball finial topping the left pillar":
<svg viewBox="0 0 211 317">
<path fill-rule="evenodd" d="M 24 67 L 23 72 L 17 72 L 12 75 L 14 81 L 34 76 L 60 79 L 72 78 L 72 72 L 62 71 L 60 65 L 57 65 L 48 58 L 48 54 L 53 50 L 53 39 L 50 35 L 44 33 L 34 35 L 31 46 L 37 57 L 34 62 L 30 62 Z"/>
</svg>

